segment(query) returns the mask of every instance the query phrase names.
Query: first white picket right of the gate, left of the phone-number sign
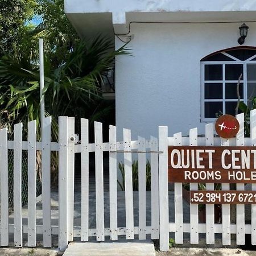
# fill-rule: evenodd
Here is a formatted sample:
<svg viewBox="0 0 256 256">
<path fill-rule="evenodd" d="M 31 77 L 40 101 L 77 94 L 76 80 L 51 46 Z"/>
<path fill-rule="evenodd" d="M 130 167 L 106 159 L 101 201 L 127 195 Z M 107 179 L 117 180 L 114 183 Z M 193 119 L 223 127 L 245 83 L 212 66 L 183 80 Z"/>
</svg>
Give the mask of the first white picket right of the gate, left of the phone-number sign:
<svg viewBox="0 0 256 256">
<path fill-rule="evenodd" d="M 174 146 L 182 145 L 182 134 L 174 134 Z M 182 183 L 174 183 L 175 243 L 183 243 L 183 197 Z"/>
</svg>

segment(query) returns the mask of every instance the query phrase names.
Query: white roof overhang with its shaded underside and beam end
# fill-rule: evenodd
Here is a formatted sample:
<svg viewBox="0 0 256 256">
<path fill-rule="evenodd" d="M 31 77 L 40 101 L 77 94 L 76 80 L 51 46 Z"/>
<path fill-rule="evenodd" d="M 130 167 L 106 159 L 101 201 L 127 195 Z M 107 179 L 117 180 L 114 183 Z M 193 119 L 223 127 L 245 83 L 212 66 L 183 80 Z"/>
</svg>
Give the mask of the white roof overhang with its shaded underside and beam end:
<svg viewBox="0 0 256 256">
<path fill-rule="evenodd" d="M 255 11 L 255 0 L 65 0 L 65 13 L 81 36 L 113 28 L 125 34 L 133 21 L 254 20 Z"/>
</svg>

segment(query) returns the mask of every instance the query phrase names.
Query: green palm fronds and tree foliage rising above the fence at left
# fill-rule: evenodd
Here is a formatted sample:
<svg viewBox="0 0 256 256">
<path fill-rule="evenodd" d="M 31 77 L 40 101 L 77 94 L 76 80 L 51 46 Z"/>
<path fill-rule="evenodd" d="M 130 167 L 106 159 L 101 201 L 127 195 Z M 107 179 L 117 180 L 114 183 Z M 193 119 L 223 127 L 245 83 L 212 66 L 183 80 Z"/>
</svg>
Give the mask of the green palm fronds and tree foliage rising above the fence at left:
<svg viewBox="0 0 256 256">
<path fill-rule="evenodd" d="M 45 50 L 46 115 L 53 117 L 54 137 L 59 115 L 94 121 L 108 114 L 112 106 L 101 98 L 102 77 L 113 68 L 115 56 L 127 53 L 125 47 L 114 50 L 112 40 L 101 36 L 80 40 L 64 14 L 63 0 L 15 0 L 4 4 L 0 26 L 5 21 L 11 26 L 13 20 L 18 29 L 0 42 L 0 125 L 11 129 L 20 121 L 26 125 L 37 119 L 40 123 L 40 37 L 44 38 Z M 15 18 L 3 18 L 8 10 Z M 24 14 L 19 20 L 16 16 L 20 11 Z M 38 24 L 32 22 L 35 17 Z"/>
</svg>

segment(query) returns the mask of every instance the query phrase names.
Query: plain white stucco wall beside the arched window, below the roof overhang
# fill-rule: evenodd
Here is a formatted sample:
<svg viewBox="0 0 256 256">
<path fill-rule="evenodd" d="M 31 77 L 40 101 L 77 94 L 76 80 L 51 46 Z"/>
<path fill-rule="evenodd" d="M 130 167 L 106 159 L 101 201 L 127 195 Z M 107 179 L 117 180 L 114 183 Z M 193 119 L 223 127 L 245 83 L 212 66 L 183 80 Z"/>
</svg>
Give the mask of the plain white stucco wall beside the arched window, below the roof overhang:
<svg viewBox="0 0 256 256">
<path fill-rule="evenodd" d="M 200 60 L 209 53 L 238 46 L 238 27 L 228 24 L 132 24 L 128 47 L 133 56 L 116 60 L 116 122 L 132 137 L 188 134 L 200 122 Z M 256 46 L 256 23 L 249 23 L 245 46 Z M 115 39 L 116 47 L 123 43 Z"/>
</svg>

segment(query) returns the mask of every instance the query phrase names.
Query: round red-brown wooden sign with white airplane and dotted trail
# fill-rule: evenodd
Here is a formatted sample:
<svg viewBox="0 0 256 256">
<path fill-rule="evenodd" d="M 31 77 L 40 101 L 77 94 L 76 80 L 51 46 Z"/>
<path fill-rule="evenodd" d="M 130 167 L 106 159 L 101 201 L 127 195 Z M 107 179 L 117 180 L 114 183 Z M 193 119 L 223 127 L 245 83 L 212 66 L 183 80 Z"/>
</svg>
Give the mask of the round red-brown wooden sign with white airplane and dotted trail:
<svg viewBox="0 0 256 256">
<path fill-rule="evenodd" d="M 239 129 L 239 122 L 233 115 L 221 115 L 215 123 L 216 133 L 222 138 L 235 137 Z"/>
</svg>

